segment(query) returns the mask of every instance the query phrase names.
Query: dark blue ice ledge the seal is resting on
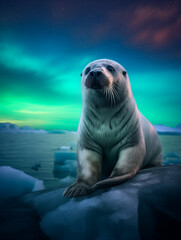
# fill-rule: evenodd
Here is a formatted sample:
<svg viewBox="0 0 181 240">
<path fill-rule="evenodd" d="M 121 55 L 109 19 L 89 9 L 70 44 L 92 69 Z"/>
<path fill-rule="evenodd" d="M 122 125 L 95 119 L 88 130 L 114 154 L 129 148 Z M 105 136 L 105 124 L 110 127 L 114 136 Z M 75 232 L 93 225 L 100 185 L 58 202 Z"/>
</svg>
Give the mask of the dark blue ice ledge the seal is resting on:
<svg viewBox="0 0 181 240">
<path fill-rule="evenodd" d="M 86 197 L 63 198 L 64 188 L 56 188 L 30 193 L 17 201 L 19 206 L 39 215 L 41 220 L 35 214 L 26 216 L 37 226 L 40 221 L 41 230 L 49 239 L 181 239 L 180 186 L 178 164 L 141 170 L 119 186 Z M 19 214 L 17 210 L 16 216 Z M 23 225 L 16 224 L 23 233 Z M 29 224 L 26 234 L 33 229 L 34 225 Z M 34 239 L 40 229 L 37 231 Z M 37 239 L 44 239 L 42 231 L 42 238 Z"/>
</svg>

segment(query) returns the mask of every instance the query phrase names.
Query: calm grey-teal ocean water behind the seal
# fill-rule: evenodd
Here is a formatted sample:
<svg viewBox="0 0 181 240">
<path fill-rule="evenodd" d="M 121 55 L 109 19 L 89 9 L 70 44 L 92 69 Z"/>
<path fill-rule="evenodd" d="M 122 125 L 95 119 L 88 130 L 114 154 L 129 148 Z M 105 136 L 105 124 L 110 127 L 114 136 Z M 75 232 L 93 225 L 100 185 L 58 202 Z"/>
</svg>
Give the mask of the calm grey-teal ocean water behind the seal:
<svg viewBox="0 0 181 240">
<path fill-rule="evenodd" d="M 181 163 L 181 136 L 160 135 L 164 165 Z M 59 185 L 53 175 L 54 152 L 76 144 L 76 134 L 0 134 L 0 166 L 11 166 L 44 181 L 46 188 Z M 36 169 L 38 166 L 38 169 Z"/>
</svg>

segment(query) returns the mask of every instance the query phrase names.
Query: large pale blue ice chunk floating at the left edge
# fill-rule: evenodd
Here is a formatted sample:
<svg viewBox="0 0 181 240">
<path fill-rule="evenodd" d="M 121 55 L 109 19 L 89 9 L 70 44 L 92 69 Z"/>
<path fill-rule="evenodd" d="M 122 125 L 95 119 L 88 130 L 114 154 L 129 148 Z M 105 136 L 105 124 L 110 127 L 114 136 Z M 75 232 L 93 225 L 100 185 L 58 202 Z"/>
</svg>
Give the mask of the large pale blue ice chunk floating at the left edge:
<svg viewBox="0 0 181 240">
<path fill-rule="evenodd" d="M 42 180 L 9 166 L 0 167 L 0 200 L 44 189 Z"/>
</svg>

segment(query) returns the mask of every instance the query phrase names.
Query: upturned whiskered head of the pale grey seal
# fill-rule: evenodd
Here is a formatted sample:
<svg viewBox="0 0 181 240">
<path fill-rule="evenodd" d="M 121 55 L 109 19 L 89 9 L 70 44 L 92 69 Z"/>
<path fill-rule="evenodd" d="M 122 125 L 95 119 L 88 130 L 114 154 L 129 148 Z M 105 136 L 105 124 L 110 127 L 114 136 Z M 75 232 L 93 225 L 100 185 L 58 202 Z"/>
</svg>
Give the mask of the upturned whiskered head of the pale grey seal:
<svg viewBox="0 0 181 240">
<path fill-rule="evenodd" d="M 82 74 L 82 91 L 86 96 L 104 95 L 107 102 L 116 104 L 130 87 L 126 70 L 117 62 L 99 59 L 89 63 Z M 127 81 L 127 83 L 126 83 Z"/>
</svg>

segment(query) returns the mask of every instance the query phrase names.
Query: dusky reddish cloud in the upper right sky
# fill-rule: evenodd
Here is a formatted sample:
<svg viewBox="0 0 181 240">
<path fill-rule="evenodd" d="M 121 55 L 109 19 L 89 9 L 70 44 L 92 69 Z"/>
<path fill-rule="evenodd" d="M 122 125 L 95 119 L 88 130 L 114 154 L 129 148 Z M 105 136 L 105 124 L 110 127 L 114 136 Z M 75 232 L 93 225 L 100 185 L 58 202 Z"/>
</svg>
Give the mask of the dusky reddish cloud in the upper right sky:
<svg viewBox="0 0 181 240">
<path fill-rule="evenodd" d="M 134 33 L 133 44 L 157 48 L 181 39 L 181 17 L 177 6 L 138 7 L 128 26 Z"/>
</svg>

